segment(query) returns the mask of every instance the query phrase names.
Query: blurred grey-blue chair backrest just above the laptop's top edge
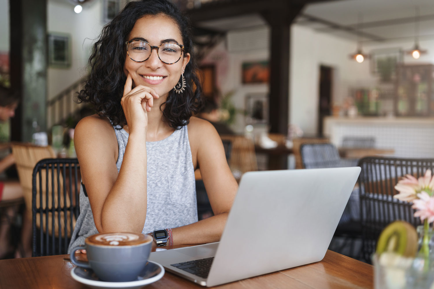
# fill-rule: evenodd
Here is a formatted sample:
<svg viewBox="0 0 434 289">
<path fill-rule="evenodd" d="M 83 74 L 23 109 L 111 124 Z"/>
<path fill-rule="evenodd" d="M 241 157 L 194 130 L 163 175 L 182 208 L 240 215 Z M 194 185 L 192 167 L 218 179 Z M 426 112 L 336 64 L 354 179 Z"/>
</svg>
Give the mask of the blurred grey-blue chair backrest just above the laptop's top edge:
<svg viewBox="0 0 434 289">
<path fill-rule="evenodd" d="M 303 143 L 300 154 L 305 169 L 342 166 L 338 149 L 332 143 Z"/>
</svg>

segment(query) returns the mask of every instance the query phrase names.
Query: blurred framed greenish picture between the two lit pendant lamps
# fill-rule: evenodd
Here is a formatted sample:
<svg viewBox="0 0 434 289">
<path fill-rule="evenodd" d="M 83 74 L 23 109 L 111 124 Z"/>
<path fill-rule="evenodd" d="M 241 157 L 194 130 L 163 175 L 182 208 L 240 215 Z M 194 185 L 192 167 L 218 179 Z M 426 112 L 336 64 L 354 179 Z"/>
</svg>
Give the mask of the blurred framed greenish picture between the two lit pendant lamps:
<svg viewBox="0 0 434 289">
<path fill-rule="evenodd" d="M 372 74 L 379 75 L 383 82 L 389 82 L 394 79 L 396 65 L 404 62 L 404 52 L 401 48 L 375 49 L 370 58 Z"/>
</svg>

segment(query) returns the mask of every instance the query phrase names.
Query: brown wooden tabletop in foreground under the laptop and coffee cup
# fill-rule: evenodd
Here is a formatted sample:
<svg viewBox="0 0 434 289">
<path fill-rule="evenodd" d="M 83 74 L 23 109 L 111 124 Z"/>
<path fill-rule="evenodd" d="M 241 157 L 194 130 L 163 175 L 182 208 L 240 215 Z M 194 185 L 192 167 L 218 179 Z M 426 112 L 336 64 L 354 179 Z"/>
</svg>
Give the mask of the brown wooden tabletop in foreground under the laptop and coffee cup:
<svg viewBox="0 0 434 289">
<path fill-rule="evenodd" d="M 173 246 L 168 249 L 178 247 L 183 246 Z M 77 255 L 79 260 L 85 259 L 84 254 Z M 0 288 L 89 288 L 72 279 L 70 272 L 74 265 L 64 258 L 69 259 L 69 255 L 0 260 Z M 162 279 L 145 288 L 204 287 L 166 271 Z M 317 263 L 244 279 L 215 288 L 373 288 L 373 267 L 339 253 L 327 251 L 324 259 Z"/>
</svg>

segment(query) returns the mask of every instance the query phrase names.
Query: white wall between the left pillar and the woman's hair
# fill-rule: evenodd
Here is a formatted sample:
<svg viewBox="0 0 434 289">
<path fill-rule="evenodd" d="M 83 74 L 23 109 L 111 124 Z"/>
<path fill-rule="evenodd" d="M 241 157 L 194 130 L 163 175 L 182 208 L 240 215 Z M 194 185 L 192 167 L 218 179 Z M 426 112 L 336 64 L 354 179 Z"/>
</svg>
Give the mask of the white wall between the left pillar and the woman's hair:
<svg viewBox="0 0 434 289">
<path fill-rule="evenodd" d="M 74 6 L 69 3 L 49 0 L 47 18 L 48 32 L 69 33 L 72 39 L 71 67 L 48 68 L 47 98 L 51 99 L 86 75 L 85 67 L 89 59 L 89 49 L 104 24 L 101 20 L 101 0 L 84 6 L 82 12 L 78 14 L 74 12 Z"/>
</svg>

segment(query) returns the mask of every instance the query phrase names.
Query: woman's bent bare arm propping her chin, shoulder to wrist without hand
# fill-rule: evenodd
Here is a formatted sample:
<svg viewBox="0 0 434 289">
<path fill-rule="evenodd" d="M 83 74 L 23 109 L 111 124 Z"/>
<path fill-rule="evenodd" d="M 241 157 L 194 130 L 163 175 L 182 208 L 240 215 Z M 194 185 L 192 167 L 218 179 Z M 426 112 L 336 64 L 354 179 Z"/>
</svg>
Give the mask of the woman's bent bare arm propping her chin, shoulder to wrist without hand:
<svg viewBox="0 0 434 289">
<path fill-rule="evenodd" d="M 97 230 L 141 232 L 146 217 L 146 140 L 130 136 L 118 174 L 118 143 L 108 120 L 85 117 L 74 146 Z"/>
</svg>

